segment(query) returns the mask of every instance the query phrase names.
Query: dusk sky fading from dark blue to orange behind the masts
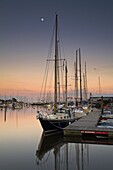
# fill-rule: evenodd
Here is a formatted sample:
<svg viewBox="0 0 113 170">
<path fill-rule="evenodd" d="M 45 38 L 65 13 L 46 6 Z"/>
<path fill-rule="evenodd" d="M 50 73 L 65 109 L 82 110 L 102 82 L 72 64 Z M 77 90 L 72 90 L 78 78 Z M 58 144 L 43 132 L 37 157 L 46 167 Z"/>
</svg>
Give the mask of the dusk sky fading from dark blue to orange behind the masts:
<svg viewBox="0 0 113 170">
<path fill-rule="evenodd" d="M 56 13 L 69 84 L 80 48 L 88 92 L 99 92 L 100 79 L 102 93 L 113 94 L 112 0 L 1 0 L 1 96 L 36 97 L 40 92 Z"/>
</svg>

